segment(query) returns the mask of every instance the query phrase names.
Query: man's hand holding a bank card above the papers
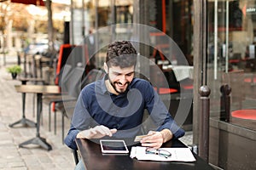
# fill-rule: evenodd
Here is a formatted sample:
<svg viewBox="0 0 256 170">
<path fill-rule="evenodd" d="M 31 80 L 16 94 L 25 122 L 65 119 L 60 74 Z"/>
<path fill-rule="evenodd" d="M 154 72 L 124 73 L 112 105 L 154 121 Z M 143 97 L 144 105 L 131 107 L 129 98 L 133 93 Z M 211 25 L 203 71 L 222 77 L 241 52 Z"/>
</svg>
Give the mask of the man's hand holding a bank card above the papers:
<svg viewBox="0 0 256 170">
<path fill-rule="evenodd" d="M 149 131 L 150 134 L 141 140 L 142 146 L 153 149 L 159 149 L 163 143 L 172 139 L 172 132 L 169 129 L 164 129 L 161 132 Z"/>
</svg>

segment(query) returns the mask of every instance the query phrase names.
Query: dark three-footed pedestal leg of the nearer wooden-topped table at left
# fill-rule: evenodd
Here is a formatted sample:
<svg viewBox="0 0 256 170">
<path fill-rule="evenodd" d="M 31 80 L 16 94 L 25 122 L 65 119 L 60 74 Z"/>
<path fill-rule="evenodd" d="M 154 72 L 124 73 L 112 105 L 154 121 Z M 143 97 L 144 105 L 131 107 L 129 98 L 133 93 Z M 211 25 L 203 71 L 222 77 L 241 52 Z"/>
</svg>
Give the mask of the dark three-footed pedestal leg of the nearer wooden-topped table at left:
<svg viewBox="0 0 256 170">
<path fill-rule="evenodd" d="M 26 142 L 23 142 L 19 144 L 20 147 L 23 147 L 26 144 L 38 144 L 42 146 L 46 150 L 52 150 L 52 147 L 50 144 L 46 142 L 46 139 L 40 137 L 40 118 L 41 118 L 41 113 L 42 113 L 42 95 L 43 94 L 38 94 L 37 95 L 37 134 L 36 138 L 29 139 Z"/>
</svg>

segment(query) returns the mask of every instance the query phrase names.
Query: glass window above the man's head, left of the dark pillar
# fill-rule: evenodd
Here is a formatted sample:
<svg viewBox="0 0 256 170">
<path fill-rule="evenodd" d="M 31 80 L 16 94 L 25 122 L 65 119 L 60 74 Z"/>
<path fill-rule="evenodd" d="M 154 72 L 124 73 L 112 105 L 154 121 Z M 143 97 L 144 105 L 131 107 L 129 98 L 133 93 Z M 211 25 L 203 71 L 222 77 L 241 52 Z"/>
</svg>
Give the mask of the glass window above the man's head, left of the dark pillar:
<svg viewBox="0 0 256 170">
<path fill-rule="evenodd" d="M 111 30 L 103 29 L 105 32 L 97 30 L 114 24 L 131 23 L 133 0 L 73 0 L 72 11 L 72 43 L 86 43 L 89 52 L 95 51 L 91 48 L 96 49 L 99 43 L 108 44 L 111 41 L 109 32 L 112 37 L 130 36 L 129 28 L 122 28 L 119 25 L 111 27 Z M 89 45 L 89 42 L 92 44 Z M 93 55 L 96 67 L 102 67 L 105 61 L 105 48 L 98 49 L 97 54 L 90 55 Z"/>
</svg>

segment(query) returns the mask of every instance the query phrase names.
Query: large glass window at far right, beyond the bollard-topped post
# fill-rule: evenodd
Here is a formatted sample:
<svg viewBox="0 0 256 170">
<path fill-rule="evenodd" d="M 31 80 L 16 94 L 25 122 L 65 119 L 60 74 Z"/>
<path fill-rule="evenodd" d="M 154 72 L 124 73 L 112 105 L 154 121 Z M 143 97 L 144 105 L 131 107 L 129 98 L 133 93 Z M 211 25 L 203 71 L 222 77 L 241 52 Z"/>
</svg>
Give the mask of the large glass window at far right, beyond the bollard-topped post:
<svg viewBox="0 0 256 170">
<path fill-rule="evenodd" d="M 256 101 L 256 1 L 208 2 L 208 86 L 211 93 L 211 116 L 221 116 L 220 87 L 227 83 L 230 93 L 230 123 L 255 129 L 246 114 L 234 111 L 255 109 Z M 228 101 L 223 98 L 223 104 Z M 229 107 L 228 107 L 229 108 Z M 247 111 L 248 113 L 248 111 Z M 221 117 L 219 117 L 221 118 Z M 255 119 L 255 117 L 254 117 Z"/>
</svg>

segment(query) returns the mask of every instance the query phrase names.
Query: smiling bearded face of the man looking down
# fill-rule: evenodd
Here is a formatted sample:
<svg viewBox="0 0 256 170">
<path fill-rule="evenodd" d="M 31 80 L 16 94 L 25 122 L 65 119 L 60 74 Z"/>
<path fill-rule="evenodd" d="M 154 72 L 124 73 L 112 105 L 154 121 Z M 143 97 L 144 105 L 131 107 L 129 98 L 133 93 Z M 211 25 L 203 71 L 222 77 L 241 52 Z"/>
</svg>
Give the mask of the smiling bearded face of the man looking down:
<svg viewBox="0 0 256 170">
<path fill-rule="evenodd" d="M 111 86 L 118 94 L 125 93 L 134 77 L 134 66 L 120 68 L 119 66 L 108 67 L 108 78 Z"/>
</svg>

